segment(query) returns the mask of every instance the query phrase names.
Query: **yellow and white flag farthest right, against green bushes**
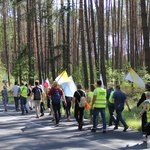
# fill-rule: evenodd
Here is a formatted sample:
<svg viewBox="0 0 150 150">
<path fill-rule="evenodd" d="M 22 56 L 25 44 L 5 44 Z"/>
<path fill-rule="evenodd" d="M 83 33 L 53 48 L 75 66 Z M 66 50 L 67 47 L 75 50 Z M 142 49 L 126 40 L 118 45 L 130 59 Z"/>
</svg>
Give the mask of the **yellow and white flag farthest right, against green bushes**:
<svg viewBox="0 0 150 150">
<path fill-rule="evenodd" d="M 138 76 L 138 74 L 132 68 L 129 70 L 125 79 L 129 80 L 143 88 L 145 87 L 145 83 L 143 82 L 143 80 Z"/>
</svg>

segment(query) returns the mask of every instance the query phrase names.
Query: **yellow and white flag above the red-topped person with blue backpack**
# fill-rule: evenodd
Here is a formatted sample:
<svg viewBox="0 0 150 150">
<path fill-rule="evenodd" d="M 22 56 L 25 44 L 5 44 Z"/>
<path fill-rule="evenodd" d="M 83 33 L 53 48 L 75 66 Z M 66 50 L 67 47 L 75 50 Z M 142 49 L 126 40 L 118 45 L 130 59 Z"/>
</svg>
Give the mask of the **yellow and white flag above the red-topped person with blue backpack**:
<svg viewBox="0 0 150 150">
<path fill-rule="evenodd" d="M 66 70 L 64 70 L 56 79 L 55 81 L 58 82 L 58 84 L 62 84 L 64 82 L 70 82 L 70 79 L 68 77 L 68 74 Z"/>
</svg>

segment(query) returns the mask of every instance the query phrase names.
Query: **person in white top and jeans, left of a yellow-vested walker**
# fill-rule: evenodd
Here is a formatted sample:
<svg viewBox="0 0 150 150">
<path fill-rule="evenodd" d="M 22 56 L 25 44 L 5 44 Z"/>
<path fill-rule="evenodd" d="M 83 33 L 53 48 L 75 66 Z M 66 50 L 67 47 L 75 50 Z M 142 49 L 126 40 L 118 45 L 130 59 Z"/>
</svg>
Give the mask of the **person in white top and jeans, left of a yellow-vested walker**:
<svg viewBox="0 0 150 150">
<path fill-rule="evenodd" d="M 15 102 L 15 110 L 19 111 L 19 97 L 18 97 L 18 90 L 19 90 L 19 86 L 18 86 L 18 82 L 15 82 L 15 85 L 12 87 L 11 91 L 12 91 L 12 95 L 14 97 L 14 102 Z"/>
</svg>

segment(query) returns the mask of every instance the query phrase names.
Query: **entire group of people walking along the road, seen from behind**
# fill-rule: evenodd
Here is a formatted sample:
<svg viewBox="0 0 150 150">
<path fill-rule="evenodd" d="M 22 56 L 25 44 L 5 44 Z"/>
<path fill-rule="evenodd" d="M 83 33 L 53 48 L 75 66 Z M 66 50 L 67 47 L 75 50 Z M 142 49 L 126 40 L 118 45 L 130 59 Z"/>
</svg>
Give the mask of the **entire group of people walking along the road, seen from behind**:
<svg viewBox="0 0 150 150">
<path fill-rule="evenodd" d="M 35 81 L 34 87 L 29 85 L 25 85 L 21 83 L 19 86 L 17 82 L 11 89 L 14 102 L 15 102 L 15 110 L 20 111 L 22 115 L 28 113 L 29 109 L 33 109 L 33 101 L 36 112 L 36 118 L 44 115 L 44 102 L 47 98 L 47 107 L 50 110 L 50 114 L 53 115 L 53 120 L 55 120 L 56 126 L 59 125 L 59 121 L 61 118 L 61 99 L 63 100 L 63 107 L 66 111 L 67 121 L 70 121 L 70 109 L 71 106 L 74 107 L 74 117 L 78 123 L 78 129 L 82 130 L 84 125 L 84 110 L 85 107 L 81 107 L 79 105 L 81 98 L 85 97 L 87 103 L 90 105 L 90 122 L 93 124 L 91 132 L 96 132 L 98 125 L 99 115 L 102 118 L 102 133 L 107 132 L 107 123 L 106 123 L 106 106 L 108 106 L 109 110 L 109 126 L 114 125 L 114 130 L 118 129 L 119 122 L 122 123 L 125 132 L 128 129 L 128 125 L 122 116 L 122 112 L 124 110 L 124 105 L 126 104 L 128 110 L 130 111 L 130 107 L 126 98 L 126 94 L 121 91 L 119 85 L 113 88 L 113 83 L 109 84 L 109 88 L 106 90 L 102 88 L 101 80 L 97 80 L 96 87 L 91 84 L 90 90 L 86 93 L 81 84 L 77 84 L 77 91 L 74 92 L 73 97 L 67 97 L 64 95 L 63 89 L 61 89 L 58 83 L 55 81 L 53 83 L 52 88 L 49 88 L 44 92 L 42 87 L 40 87 L 39 82 Z M 7 103 L 8 95 L 7 95 L 7 87 L 4 85 L 3 90 L 1 92 L 3 96 L 3 104 L 5 107 L 5 111 L 7 111 Z M 146 101 L 145 101 L 146 100 Z M 20 101 L 20 103 L 19 103 Z M 28 106 L 27 107 L 27 103 Z M 142 118 L 142 132 L 144 134 L 149 135 L 150 128 L 150 84 L 146 84 L 146 92 L 144 92 L 137 103 L 137 107 L 139 107 L 142 103 L 144 103 L 144 107 L 139 115 Z M 116 116 L 115 113 L 116 112 Z M 146 113 L 147 112 L 147 113 Z"/>
</svg>

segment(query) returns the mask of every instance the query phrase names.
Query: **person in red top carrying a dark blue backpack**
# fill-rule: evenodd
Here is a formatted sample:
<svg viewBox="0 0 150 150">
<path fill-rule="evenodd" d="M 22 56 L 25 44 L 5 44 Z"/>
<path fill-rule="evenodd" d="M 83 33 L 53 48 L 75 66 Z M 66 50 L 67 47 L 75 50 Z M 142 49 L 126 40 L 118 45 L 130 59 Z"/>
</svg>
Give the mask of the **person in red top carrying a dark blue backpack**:
<svg viewBox="0 0 150 150">
<path fill-rule="evenodd" d="M 66 105 L 66 99 L 65 99 L 64 93 L 63 93 L 62 89 L 59 88 L 58 82 L 54 81 L 52 88 L 48 92 L 48 96 L 51 97 L 53 111 L 54 111 L 54 115 L 55 115 L 56 126 L 58 126 L 59 125 L 59 120 L 60 120 L 60 117 L 61 117 L 61 113 L 60 113 L 61 98 L 63 98 L 64 103 Z"/>
</svg>

